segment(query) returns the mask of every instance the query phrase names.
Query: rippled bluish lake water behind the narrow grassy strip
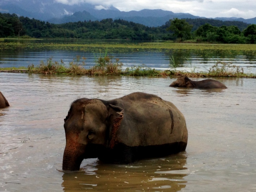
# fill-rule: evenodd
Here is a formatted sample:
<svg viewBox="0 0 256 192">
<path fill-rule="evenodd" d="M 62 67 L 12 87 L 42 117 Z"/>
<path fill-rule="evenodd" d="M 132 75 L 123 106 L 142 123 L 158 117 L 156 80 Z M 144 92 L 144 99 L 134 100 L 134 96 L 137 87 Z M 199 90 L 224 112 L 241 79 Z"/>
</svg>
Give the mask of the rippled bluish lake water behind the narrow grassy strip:
<svg viewBox="0 0 256 192">
<path fill-rule="evenodd" d="M 155 68 L 156 70 L 168 70 L 173 67 L 174 60 L 177 70 L 188 72 L 208 72 L 217 61 L 231 63 L 243 68 L 245 73 L 256 74 L 255 50 L 201 50 L 201 49 L 174 49 L 170 44 L 169 49 L 145 49 L 141 46 L 138 49 L 129 47 L 131 44 L 140 44 L 139 41 L 126 40 L 76 40 L 76 39 L 44 39 L 44 40 L 18 40 L 5 39 L 4 43 L 19 43 L 20 47 L 12 48 L 12 44 L 0 48 L 0 67 L 27 67 L 34 64 L 39 65 L 41 61 L 57 61 L 69 66 L 69 63 L 76 60 L 76 56 L 85 57 L 85 68 L 95 65 L 98 57 L 105 53 L 113 58 L 118 58 L 123 63 L 123 70 L 127 67 L 143 66 Z M 90 44 L 109 44 L 109 48 L 88 48 Z M 3 43 L 2 43 L 3 44 Z M 27 45 L 29 46 L 23 46 Z M 38 45 L 36 48 L 33 45 Z M 51 49 L 46 44 L 59 44 L 59 48 Z M 74 46 L 74 45 L 84 46 Z M 124 44 L 125 48 L 111 48 L 113 44 Z M 1 45 L 1 43 L 0 43 Z M 72 50 L 62 48 L 62 45 L 73 45 Z M 216 45 L 218 46 L 218 45 Z M 1 46 L 0 46 L 1 47 Z M 171 58 L 171 59 L 170 59 Z"/>
</svg>

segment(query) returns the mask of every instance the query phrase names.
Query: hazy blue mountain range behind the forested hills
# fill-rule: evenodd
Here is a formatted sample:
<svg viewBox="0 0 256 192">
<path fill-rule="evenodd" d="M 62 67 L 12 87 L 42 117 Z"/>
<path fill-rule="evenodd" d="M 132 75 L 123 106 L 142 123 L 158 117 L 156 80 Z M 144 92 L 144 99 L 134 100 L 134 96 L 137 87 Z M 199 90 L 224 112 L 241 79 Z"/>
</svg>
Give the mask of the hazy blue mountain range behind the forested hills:
<svg viewBox="0 0 256 192">
<path fill-rule="evenodd" d="M 78 5 L 65 5 L 53 0 L 3 0 L 0 1 L 1 13 L 15 13 L 18 16 L 39 19 L 50 23 L 67 23 L 78 21 L 101 21 L 102 19 L 124 19 L 135 23 L 141 23 L 149 27 L 162 26 L 173 18 L 195 19 L 205 18 L 191 15 L 189 13 L 173 13 L 161 9 L 143 9 L 140 11 L 123 12 L 114 6 L 105 8 L 101 5 L 80 3 Z M 248 24 L 256 24 L 256 17 L 243 19 L 237 17 L 211 18 L 221 21 L 241 21 Z"/>
</svg>

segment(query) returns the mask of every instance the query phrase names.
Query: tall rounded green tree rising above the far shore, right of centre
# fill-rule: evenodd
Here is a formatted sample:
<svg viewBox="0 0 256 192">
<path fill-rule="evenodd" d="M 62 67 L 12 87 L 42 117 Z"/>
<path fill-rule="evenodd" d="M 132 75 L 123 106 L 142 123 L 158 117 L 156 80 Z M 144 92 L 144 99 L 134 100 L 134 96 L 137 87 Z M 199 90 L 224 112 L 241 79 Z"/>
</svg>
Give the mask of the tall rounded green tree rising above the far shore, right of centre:
<svg viewBox="0 0 256 192">
<path fill-rule="evenodd" d="M 167 28 L 169 31 L 173 31 L 174 35 L 182 41 L 191 38 L 191 30 L 193 25 L 186 22 L 185 19 L 170 19 L 171 25 Z"/>
</svg>

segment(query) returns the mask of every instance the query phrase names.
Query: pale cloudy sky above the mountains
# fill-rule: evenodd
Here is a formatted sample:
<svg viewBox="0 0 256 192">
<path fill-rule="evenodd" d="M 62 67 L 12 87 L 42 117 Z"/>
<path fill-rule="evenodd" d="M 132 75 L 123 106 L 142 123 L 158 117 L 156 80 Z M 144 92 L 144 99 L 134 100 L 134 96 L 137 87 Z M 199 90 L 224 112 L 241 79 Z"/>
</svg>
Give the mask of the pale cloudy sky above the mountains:
<svg viewBox="0 0 256 192">
<path fill-rule="evenodd" d="M 111 5 L 120 11 L 162 9 L 174 13 L 190 13 L 195 16 L 256 17 L 256 0 L 54 0 L 63 4 L 90 3 L 96 8 L 107 9 Z"/>
</svg>

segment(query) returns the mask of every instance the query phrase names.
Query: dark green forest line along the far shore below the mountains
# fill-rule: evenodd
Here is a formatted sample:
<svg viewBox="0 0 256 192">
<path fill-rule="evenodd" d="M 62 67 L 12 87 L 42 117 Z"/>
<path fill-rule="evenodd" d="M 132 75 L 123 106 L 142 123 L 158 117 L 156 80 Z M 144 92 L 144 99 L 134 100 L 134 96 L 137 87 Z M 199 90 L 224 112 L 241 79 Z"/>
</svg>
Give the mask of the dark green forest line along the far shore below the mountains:
<svg viewBox="0 0 256 192">
<path fill-rule="evenodd" d="M 148 27 L 123 19 L 52 24 L 16 14 L 0 13 L 0 37 L 176 40 L 255 44 L 256 25 L 215 19 L 171 19 Z"/>
</svg>

